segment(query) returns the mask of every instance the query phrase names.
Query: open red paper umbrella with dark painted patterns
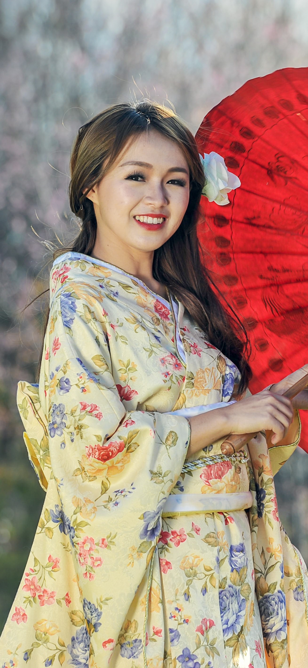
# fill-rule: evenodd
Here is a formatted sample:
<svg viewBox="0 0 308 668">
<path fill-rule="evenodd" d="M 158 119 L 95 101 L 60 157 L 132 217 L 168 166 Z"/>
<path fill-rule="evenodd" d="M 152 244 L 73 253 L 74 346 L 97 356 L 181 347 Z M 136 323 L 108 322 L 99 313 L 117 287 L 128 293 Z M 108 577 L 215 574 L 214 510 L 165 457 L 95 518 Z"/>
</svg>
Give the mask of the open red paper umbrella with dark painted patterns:
<svg viewBox="0 0 308 668">
<path fill-rule="evenodd" d="M 201 198 L 198 234 L 249 332 L 256 392 L 308 362 L 308 67 L 247 81 L 205 116 L 196 140 L 241 180 L 227 206 Z"/>
</svg>

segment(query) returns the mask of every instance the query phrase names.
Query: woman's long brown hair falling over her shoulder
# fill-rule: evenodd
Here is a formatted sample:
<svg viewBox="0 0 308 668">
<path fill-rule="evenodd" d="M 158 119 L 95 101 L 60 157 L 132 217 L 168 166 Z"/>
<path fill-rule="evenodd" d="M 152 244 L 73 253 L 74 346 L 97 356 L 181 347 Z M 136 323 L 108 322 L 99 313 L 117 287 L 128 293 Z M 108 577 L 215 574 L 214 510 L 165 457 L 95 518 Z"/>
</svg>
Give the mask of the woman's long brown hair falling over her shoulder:
<svg viewBox="0 0 308 668">
<path fill-rule="evenodd" d="M 223 307 L 223 295 L 201 262 L 197 220 L 205 177 L 195 138 L 173 110 L 147 100 L 125 102 L 109 107 L 79 128 L 71 152 L 69 203 L 81 222 L 80 232 L 69 248 L 57 250 L 54 258 L 66 251 L 91 255 L 97 222 L 87 194 L 105 176 L 127 142 L 151 129 L 179 145 L 190 172 L 187 210 L 175 234 L 154 252 L 153 277 L 183 303 L 209 343 L 237 365 L 242 393 L 251 378 L 247 333 L 233 309 Z"/>
</svg>

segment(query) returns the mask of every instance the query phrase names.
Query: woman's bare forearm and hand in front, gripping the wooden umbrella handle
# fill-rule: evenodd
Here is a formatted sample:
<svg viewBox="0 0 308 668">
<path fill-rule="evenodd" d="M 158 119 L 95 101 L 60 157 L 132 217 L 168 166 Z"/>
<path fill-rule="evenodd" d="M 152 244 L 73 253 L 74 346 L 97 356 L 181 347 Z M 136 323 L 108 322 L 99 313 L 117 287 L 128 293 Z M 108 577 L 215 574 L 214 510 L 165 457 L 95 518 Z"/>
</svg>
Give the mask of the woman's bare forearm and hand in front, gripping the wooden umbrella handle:
<svg viewBox="0 0 308 668">
<path fill-rule="evenodd" d="M 291 401 L 267 389 L 230 405 L 226 403 L 223 408 L 189 419 L 191 438 L 187 457 L 230 434 L 268 430 L 273 432 L 272 444 L 277 444 L 285 438 L 293 417 Z"/>
</svg>

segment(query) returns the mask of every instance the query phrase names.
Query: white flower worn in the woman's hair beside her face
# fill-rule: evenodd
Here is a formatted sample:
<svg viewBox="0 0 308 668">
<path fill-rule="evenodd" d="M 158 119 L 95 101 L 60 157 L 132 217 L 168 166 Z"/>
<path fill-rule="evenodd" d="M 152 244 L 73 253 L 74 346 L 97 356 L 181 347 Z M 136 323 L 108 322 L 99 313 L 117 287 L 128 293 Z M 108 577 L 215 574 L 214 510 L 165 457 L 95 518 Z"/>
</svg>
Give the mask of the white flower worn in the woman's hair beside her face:
<svg viewBox="0 0 308 668">
<path fill-rule="evenodd" d="M 239 188 L 241 181 L 235 174 L 227 170 L 225 160 L 215 151 L 205 153 L 204 156 L 199 153 L 199 156 L 205 175 L 202 194 L 209 202 L 215 202 L 219 206 L 229 204 L 227 193 Z"/>
</svg>

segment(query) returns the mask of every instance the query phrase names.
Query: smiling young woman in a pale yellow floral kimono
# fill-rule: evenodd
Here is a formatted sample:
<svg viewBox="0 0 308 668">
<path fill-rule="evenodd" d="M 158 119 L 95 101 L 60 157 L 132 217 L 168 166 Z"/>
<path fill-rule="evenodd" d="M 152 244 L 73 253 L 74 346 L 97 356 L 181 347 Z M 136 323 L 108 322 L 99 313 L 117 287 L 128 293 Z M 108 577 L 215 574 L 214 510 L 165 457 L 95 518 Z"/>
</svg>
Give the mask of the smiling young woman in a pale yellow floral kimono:
<svg viewBox="0 0 308 668">
<path fill-rule="evenodd" d="M 272 466 L 299 441 L 307 391 L 281 394 L 307 365 L 249 395 L 239 323 L 199 258 L 204 181 L 193 136 L 157 104 L 79 130 L 81 231 L 51 271 L 39 384 L 17 397 L 47 494 L 5 666 L 305 665 L 306 570 Z M 247 432 L 261 433 L 221 455 Z"/>
</svg>

